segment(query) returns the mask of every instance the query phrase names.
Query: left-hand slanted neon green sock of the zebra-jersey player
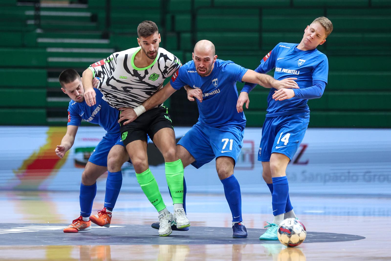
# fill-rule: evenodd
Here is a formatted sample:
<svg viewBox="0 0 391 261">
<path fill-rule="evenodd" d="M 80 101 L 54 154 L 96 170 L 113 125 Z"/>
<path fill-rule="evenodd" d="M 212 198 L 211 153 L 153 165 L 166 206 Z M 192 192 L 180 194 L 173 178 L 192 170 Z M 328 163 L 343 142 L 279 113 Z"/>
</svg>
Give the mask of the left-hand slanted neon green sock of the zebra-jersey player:
<svg viewBox="0 0 391 261">
<path fill-rule="evenodd" d="M 136 178 L 145 196 L 147 196 L 149 202 L 152 203 L 155 209 L 157 211 L 164 209 L 166 205 L 163 202 L 163 198 L 161 198 L 158 182 L 156 182 L 151 170 L 147 169 L 143 173 L 136 173 Z"/>
</svg>

